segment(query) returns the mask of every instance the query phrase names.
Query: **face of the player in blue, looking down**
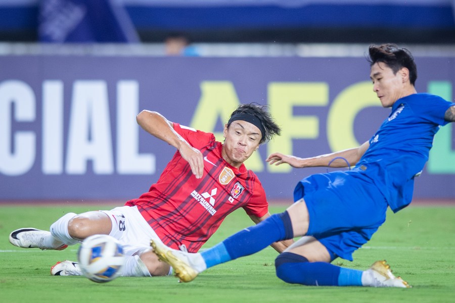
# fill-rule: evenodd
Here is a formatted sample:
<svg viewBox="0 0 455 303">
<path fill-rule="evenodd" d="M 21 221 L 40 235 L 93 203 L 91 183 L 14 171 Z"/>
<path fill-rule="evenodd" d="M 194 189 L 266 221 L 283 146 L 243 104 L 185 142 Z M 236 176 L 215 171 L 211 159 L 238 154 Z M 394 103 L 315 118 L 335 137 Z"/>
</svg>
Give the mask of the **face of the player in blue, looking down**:
<svg viewBox="0 0 455 303">
<path fill-rule="evenodd" d="M 396 100 L 404 96 L 406 68 L 400 69 L 396 74 L 383 62 L 375 63 L 371 67 L 370 78 L 373 81 L 373 91 L 376 92 L 383 107 L 391 107 Z"/>
</svg>

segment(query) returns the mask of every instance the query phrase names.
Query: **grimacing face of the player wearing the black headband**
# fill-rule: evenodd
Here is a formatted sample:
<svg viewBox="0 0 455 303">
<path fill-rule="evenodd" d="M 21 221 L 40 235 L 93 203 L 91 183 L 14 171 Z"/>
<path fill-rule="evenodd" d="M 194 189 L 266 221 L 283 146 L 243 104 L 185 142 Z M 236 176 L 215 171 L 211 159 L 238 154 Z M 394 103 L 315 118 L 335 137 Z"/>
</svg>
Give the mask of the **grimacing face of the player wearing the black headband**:
<svg viewBox="0 0 455 303">
<path fill-rule="evenodd" d="M 229 128 L 224 126 L 223 136 L 223 159 L 237 168 L 250 158 L 262 138 L 257 126 L 242 120 L 232 122 Z"/>
</svg>

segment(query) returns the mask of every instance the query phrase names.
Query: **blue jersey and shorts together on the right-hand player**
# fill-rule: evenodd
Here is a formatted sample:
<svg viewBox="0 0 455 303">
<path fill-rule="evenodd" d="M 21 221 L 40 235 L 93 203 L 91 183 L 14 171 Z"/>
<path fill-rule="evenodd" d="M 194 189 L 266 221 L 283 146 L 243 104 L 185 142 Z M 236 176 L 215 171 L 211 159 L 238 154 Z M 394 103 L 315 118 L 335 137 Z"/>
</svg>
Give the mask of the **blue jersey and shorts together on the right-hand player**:
<svg viewBox="0 0 455 303">
<path fill-rule="evenodd" d="M 332 260 L 352 261 L 352 253 L 385 221 L 387 207 L 397 212 L 411 203 L 414 178 L 452 105 L 427 93 L 398 99 L 353 169 L 311 175 L 297 184 L 294 200 L 305 200 L 307 235 L 319 240 Z"/>
</svg>

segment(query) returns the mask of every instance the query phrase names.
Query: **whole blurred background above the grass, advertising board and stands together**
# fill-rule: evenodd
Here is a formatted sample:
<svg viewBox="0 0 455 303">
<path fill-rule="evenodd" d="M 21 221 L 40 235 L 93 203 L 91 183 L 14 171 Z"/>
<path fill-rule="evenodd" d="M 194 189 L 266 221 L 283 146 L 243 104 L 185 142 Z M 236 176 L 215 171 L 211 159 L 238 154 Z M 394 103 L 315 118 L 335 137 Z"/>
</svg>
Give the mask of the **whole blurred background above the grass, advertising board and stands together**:
<svg viewBox="0 0 455 303">
<path fill-rule="evenodd" d="M 290 200 L 325 169 L 264 159 L 368 140 L 388 115 L 365 60 L 383 42 L 413 52 L 418 91 L 453 102 L 455 0 L 0 0 L 0 201 L 137 197 L 174 152 L 138 129 L 140 110 L 219 133 L 247 102 L 284 130 L 248 166 Z M 415 197 L 455 200 L 453 125 Z"/>
</svg>

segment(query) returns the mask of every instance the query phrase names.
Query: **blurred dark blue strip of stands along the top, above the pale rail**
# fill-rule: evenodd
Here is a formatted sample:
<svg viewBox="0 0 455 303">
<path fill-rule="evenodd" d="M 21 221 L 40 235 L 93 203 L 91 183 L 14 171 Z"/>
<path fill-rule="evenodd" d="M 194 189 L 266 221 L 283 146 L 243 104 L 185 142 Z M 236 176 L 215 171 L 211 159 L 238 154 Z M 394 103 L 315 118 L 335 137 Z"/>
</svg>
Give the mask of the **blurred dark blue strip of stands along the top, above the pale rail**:
<svg viewBox="0 0 455 303">
<path fill-rule="evenodd" d="M 216 43 L 448 44 L 455 42 L 453 6 L 453 0 L 2 0 L 0 39 L 162 42 L 178 32 Z M 106 31 L 114 24 L 128 33 Z"/>
</svg>

